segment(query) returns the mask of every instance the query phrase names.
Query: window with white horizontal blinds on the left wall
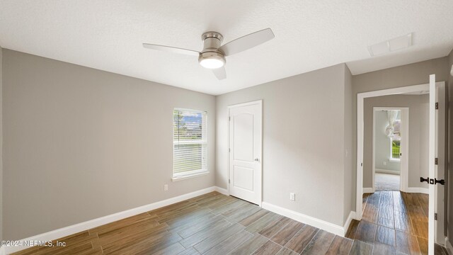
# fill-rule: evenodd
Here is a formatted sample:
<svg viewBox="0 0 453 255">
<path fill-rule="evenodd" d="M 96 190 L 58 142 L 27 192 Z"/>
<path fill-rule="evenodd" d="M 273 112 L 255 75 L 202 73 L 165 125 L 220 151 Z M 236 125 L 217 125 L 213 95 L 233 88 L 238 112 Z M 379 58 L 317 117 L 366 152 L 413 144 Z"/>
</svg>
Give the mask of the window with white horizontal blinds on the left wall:
<svg viewBox="0 0 453 255">
<path fill-rule="evenodd" d="M 207 174 L 207 115 L 173 111 L 173 180 Z"/>
</svg>

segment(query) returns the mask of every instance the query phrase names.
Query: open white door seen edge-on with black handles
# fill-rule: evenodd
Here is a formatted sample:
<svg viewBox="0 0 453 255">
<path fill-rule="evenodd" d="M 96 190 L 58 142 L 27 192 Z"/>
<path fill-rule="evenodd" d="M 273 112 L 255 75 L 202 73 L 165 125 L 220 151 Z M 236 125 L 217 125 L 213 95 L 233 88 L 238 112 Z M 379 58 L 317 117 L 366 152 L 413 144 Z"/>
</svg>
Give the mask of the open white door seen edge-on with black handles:
<svg viewBox="0 0 453 255">
<path fill-rule="evenodd" d="M 436 178 L 436 165 L 435 158 L 437 157 L 437 119 L 436 119 L 436 98 L 437 98 L 437 89 L 436 89 L 436 78 L 435 74 L 430 75 L 430 142 L 429 142 L 429 214 L 428 214 L 428 254 L 434 255 L 434 242 L 435 242 L 435 178 Z"/>
</svg>

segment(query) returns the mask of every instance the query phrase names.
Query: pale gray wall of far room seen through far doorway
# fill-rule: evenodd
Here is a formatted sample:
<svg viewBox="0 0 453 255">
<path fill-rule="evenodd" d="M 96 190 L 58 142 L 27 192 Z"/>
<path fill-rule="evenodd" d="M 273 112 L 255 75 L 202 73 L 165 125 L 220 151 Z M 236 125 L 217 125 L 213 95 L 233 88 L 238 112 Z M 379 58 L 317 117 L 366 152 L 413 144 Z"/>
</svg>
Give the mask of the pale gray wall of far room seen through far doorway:
<svg viewBox="0 0 453 255">
<path fill-rule="evenodd" d="M 398 111 L 398 115 L 400 114 L 401 111 Z M 400 162 L 390 161 L 390 138 L 385 133 L 389 125 L 387 111 L 374 111 L 374 121 L 374 168 L 376 171 L 383 169 L 399 174 Z"/>
</svg>

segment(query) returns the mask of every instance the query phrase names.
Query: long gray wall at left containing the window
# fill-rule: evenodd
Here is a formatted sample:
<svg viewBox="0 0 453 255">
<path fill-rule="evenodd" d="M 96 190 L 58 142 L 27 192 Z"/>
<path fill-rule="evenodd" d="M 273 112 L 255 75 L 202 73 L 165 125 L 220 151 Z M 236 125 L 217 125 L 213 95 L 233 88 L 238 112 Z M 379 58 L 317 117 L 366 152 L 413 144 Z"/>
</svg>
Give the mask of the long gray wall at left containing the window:
<svg viewBox="0 0 453 255">
<path fill-rule="evenodd" d="M 214 96 L 11 50 L 3 61 L 5 239 L 214 186 Z M 206 176 L 171 182 L 176 107 L 208 113 Z"/>
</svg>

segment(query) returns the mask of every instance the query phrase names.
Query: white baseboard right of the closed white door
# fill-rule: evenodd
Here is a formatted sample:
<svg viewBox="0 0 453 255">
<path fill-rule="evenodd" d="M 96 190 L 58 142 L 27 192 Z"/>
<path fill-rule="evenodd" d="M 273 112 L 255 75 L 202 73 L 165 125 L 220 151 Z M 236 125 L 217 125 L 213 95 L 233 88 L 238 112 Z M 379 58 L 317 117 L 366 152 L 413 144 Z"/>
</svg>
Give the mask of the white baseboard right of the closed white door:
<svg viewBox="0 0 453 255">
<path fill-rule="evenodd" d="M 331 232 L 333 234 L 337 234 L 340 237 L 345 236 L 345 229 L 343 226 L 335 225 L 331 222 L 326 222 L 323 220 L 316 219 L 315 217 L 311 217 L 309 215 L 304 215 L 300 212 L 294 212 L 293 210 L 289 210 L 286 208 L 282 208 L 277 205 L 273 205 L 271 203 L 263 202 L 263 209 L 270 210 L 271 212 L 275 212 L 277 214 L 286 216 L 291 218 L 292 220 L 297 220 L 298 222 L 302 222 L 307 225 L 311 225 L 313 227 L 317 227 L 319 229 L 326 230 L 327 232 Z M 346 229 L 347 231 L 348 229 Z"/>
</svg>

